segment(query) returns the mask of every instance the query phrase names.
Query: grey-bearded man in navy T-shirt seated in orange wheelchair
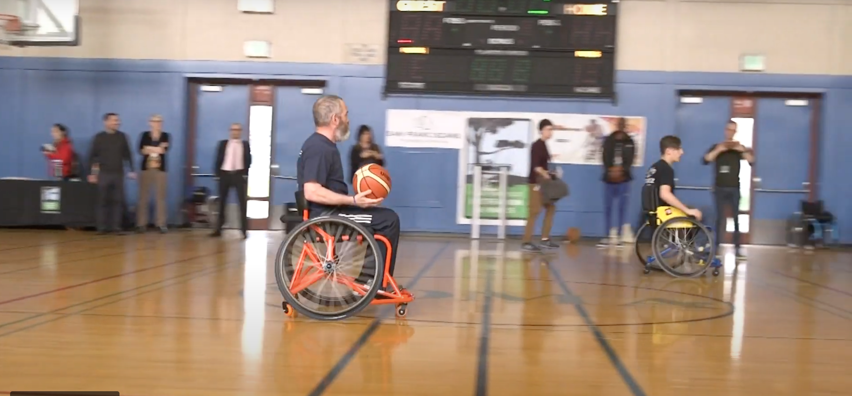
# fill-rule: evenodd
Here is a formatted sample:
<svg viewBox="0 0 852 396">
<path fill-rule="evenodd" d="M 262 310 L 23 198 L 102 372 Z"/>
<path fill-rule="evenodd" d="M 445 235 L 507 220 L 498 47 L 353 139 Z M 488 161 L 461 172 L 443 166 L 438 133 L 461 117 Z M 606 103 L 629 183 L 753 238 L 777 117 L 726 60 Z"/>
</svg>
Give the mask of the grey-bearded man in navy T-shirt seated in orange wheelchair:
<svg viewBox="0 0 852 396">
<path fill-rule="evenodd" d="M 348 185 L 343 178 L 343 161 L 337 150 L 337 142 L 349 137 L 348 108 L 343 99 L 336 95 L 325 95 L 316 100 L 314 125 L 316 133 L 302 144 L 296 162 L 296 180 L 299 190 L 308 201 L 308 216 L 347 217 L 388 238 L 391 244 L 389 274 L 393 276 L 396 247 L 400 240 L 400 217 L 393 209 L 378 206 L 383 199 L 367 198 L 370 191 L 348 195 Z M 383 255 L 388 255 L 384 244 L 379 244 L 379 249 Z M 362 273 L 358 280 L 367 284 L 373 279 L 366 278 Z M 382 279 L 377 281 L 381 282 Z"/>
</svg>

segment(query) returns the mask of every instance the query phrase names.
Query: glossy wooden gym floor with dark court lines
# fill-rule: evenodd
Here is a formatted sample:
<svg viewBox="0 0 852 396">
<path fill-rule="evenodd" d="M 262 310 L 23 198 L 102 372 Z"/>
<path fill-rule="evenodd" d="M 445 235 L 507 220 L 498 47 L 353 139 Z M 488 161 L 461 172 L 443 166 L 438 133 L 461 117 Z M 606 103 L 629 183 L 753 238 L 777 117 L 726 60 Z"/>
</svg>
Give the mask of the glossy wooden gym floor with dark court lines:
<svg viewBox="0 0 852 396">
<path fill-rule="evenodd" d="M 0 231 L 0 387 L 218 395 L 848 394 L 852 253 L 749 248 L 718 278 L 628 247 L 404 238 L 406 322 L 291 320 L 280 232 Z M 381 319 L 376 319 L 377 317 Z M 0 392 L 0 394 L 3 394 Z"/>
</svg>

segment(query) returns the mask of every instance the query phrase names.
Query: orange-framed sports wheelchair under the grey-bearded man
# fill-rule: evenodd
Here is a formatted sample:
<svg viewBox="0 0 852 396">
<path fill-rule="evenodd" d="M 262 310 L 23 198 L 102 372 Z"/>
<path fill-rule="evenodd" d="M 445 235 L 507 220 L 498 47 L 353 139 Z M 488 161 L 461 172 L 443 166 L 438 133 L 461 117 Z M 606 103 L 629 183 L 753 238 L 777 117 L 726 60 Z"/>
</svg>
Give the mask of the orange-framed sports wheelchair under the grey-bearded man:
<svg viewBox="0 0 852 396">
<path fill-rule="evenodd" d="M 307 204 L 304 202 L 304 198 L 301 192 L 296 192 L 296 206 L 302 212 L 302 224 L 307 221 L 316 221 L 317 223 L 323 222 L 324 219 L 331 219 L 331 216 L 320 216 L 315 217 L 314 219 L 310 219 L 308 217 L 308 209 Z M 395 314 L 397 318 L 404 318 L 408 313 L 408 303 L 414 301 L 414 296 L 408 290 L 400 289 L 399 284 L 396 283 L 396 280 L 393 276 L 390 275 L 390 258 L 393 255 L 393 248 L 391 247 L 390 241 L 388 238 L 383 237 L 382 235 L 378 235 L 376 233 L 370 234 L 366 231 L 366 228 L 361 226 L 360 224 L 346 218 L 339 217 L 336 218 L 335 221 L 342 221 L 344 223 L 348 223 L 351 227 L 360 230 L 360 235 L 357 237 L 358 244 L 364 244 L 365 242 L 371 245 L 377 245 L 377 242 L 382 242 L 387 248 L 387 254 L 384 257 L 384 261 L 377 261 L 377 264 L 381 264 L 382 268 L 382 282 L 371 282 L 371 284 L 360 284 L 355 282 L 356 279 L 350 277 L 343 277 L 337 279 L 337 282 L 340 284 L 348 285 L 354 292 L 360 294 L 361 296 L 372 296 L 372 300 L 369 304 L 363 304 L 361 307 L 355 307 L 351 312 L 344 314 L 343 316 L 339 315 L 328 315 L 324 316 L 321 314 L 315 313 L 306 313 L 307 309 L 300 306 L 298 302 L 298 293 L 302 290 L 305 290 L 310 284 L 314 284 L 314 282 L 320 280 L 323 276 L 323 272 L 320 272 L 318 275 L 314 275 L 310 278 L 300 279 L 299 274 L 302 271 L 302 268 L 305 264 L 305 260 L 310 258 L 314 261 L 314 265 L 317 267 L 321 267 L 323 261 L 328 260 L 328 256 L 334 255 L 334 244 L 337 242 L 334 236 L 329 235 L 327 232 L 323 231 L 320 227 L 316 225 L 311 225 L 311 229 L 320 235 L 323 241 L 329 246 L 329 250 L 326 251 L 325 260 L 320 259 L 320 255 L 314 251 L 313 246 L 305 244 L 302 246 L 302 253 L 299 255 L 299 259 L 296 262 L 296 269 L 294 270 L 293 278 L 291 279 L 290 285 L 287 286 L 284 284 L 284 280 L 281 276 L 283 273 L 283 260 L 284 255 L 290 255 L 292 252 L 284 251 L 285 247 L 291 243 L 291 238 L 296 238 L 296 233 L 291 232 L 290 235 L 285 238 L 285 240 L 281 243 L 279 247 L 279 253 L 275 257 L 275 275 L 276 280 L 279 284 L 279 291 L 281 295 L 285 297 L 285 301 L 281 303 L 281 307 L 284 309 L 285 315 L 295 318 L 297 313 L 301 312 L 306 314 L 308 317 L 320 320 L 338 320 L 338 319 L 346 319 L 350 316 L 354 316 L 359 313 L 360 310 L 364 309 L 367 305 L 383 305 L 383 304 L 395 304 Z M 363 231 L 362 231 L 363 230 Z M 363 236 L 366 235 L 367 238 L 372 238 L 372 240 L 365 241 Z M 347 241 L 348 236 L 343 236 L 343 240 Z M 379 252 L 380 250 L 377 250 Z M 339 276 L 339 275 L 338 275 Z M 300 282 L 301 281 L 301 282 Z M 388 284 L 391 286 L 390 291 L 386 291 Z M 293 297 L 293 301 L 289 301 L 288 291 L 290 296 Z"/>
</svg>

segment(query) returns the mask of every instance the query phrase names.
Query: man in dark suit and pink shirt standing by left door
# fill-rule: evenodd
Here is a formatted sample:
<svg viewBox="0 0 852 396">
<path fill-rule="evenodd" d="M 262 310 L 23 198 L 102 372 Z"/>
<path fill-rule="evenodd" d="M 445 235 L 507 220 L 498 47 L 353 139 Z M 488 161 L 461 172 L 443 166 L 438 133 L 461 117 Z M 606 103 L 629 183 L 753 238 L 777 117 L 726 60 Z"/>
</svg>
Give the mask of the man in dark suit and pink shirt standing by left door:
<svg viewBox="0 0 852 396">
<path fill-rule="evenodd" d="M 249 141 L 242 140 L 243 126 L 239 123 L 231 124 L 231 138 L 227 141 L 219 141 L 216 150 L 216 178 L 219 179 L 219 224 L 216 225 L 214 237 L 222 236 L 222 225 L 225 224 L 225 204 L 227 194 L 231 188 L 237 190 L 239 200 L 240 225 L 243 238 L 249 229 L 249 221 L 246 217 L 248 198 L 249 168 L 251 166 L 251 151 Z"/>
</svg>

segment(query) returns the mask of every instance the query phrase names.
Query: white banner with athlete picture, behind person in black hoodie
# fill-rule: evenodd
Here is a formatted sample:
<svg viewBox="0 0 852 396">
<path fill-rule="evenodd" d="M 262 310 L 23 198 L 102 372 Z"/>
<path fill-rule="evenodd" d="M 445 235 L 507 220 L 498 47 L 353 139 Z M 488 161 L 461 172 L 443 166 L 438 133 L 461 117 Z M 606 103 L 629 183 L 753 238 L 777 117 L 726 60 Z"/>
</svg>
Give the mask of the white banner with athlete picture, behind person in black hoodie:
<svg viewBox="0 0 852 396">
<path fill-rule="evenodd" d="M 553 164 L 602 165 L 603 141 L 619 129 L 619 116 L 592 114 L 536 114 L 554 123 L 547 141 Z M 642 166 L 645 153 L 645 118 L 624 117 L 625 132 L 636 146 L 633 166 Z"/>
</svg>

